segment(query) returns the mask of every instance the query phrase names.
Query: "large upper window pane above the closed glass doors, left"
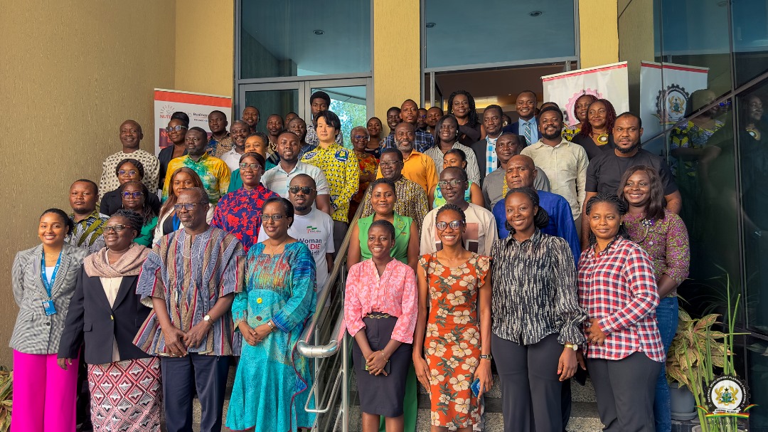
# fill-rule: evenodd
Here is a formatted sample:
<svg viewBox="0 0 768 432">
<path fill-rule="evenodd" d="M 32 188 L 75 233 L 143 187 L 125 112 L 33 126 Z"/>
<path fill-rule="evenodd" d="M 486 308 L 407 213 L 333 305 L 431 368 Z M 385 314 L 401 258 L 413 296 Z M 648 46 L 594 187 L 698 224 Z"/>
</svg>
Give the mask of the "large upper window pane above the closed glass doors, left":
<svg viewBox="0 0 768 432">
<path fill-rule="evenodd" d="M 371 70 L 370 2 L 241 2 L 240 78 Z"/>
</svg>

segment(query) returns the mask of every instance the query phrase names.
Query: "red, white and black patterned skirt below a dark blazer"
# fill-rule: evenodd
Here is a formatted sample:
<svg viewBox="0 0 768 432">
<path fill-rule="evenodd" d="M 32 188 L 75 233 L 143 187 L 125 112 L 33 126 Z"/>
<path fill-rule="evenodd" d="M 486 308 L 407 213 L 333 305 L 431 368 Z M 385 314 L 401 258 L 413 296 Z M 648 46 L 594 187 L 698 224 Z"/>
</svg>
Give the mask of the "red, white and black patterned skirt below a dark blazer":
<svg viewBox="0 0 768 432">
<path fill-rule="evenodd" d="M 94 431 L 158 432 L 163 401 L 157 357 L 88 365 Z"/>
</svg>

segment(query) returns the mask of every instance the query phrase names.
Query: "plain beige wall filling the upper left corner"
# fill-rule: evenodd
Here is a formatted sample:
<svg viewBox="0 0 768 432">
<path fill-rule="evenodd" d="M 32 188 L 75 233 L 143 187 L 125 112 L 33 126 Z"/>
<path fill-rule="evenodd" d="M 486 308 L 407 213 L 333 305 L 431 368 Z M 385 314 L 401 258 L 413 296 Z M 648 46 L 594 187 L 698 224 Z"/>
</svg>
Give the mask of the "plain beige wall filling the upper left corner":
<svg viewBox="0 0 768 432">
<path fill-rule="evenodd" d="M 175 3 L 30 0 L 3 2 L 3 15 L 0 364 L 11 366 L 15 252 L 38 244 L 41 211 L 69 210 L 72 181 L 98 181 L 124 119 L 153 148 L 152 90 L 174 88 Z"/>
</svg>

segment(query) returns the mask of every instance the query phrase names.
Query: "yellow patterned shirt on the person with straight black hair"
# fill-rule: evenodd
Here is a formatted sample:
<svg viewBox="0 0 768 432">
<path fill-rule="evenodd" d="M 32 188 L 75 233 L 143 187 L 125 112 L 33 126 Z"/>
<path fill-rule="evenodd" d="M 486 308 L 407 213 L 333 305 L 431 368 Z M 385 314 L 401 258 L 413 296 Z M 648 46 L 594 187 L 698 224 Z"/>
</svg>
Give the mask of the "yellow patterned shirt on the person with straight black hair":
<svg viewBox="0 0 768 432">
<path fill-rule="evenodd" d="M 323 170 L 331 190 L 331 218 L 334 221 L 349 222 L 349 201 L 359 187 L 360 177 L 360 167 L 355 154 L 333 143 L 328 148 L 318 145 L 312 151 L 307 151 L 301 161 Z"/>
</svg>

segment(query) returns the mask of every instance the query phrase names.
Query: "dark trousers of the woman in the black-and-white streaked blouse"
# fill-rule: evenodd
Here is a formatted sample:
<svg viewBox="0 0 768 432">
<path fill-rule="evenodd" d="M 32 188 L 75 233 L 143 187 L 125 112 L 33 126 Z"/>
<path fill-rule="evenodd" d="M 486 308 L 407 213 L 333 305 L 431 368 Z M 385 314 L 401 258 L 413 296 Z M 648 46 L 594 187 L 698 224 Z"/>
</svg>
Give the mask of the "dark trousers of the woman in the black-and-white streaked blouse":
<svg viewBox="0 0 768 432">
<path fill-rule="evenodd" d="M 563 346 L 550 334 L 521 345 L 492 334 L 491 351 L 502 381 L 505 432 L 561 432 L 562 383 L 558 362 Z"/>
</svg>

